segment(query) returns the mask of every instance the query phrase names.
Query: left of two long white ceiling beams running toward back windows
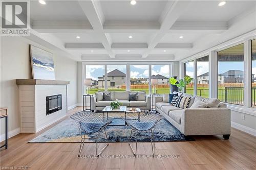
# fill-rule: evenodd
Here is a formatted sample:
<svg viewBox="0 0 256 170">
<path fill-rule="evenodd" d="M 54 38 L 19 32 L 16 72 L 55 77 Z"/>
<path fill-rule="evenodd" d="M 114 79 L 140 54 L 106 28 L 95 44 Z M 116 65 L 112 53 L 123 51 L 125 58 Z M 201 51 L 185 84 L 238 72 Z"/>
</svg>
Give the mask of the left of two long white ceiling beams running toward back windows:
<svg viewBox="0 0 256 170">
<path fill-rule="evenodd" d="M 109 53 L 111 58 L 114 58 L 115 55 L 111 50 L 111 39 L 110 36 L 103 32 L 102 23 L 104 22 L 103 12 L 100 8 L 99 2 L 97 1 L 78 1 L 83 10 L 84 14 L 87 16 L 91 26 L 94 30 L 98 31 L 99 33 L 96 37 L 101 41 L 105 50 Z"/>
</svg>

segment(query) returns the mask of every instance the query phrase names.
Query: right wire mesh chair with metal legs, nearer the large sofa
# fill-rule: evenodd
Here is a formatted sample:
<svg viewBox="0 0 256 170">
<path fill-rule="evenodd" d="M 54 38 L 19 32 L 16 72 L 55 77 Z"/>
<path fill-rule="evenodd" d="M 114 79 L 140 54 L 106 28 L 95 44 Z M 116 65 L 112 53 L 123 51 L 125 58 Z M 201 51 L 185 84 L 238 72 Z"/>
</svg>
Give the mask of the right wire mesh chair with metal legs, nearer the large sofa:
<svg viewBox="0 0 256 170">
<path fill-rule="evenodd" d="M 154 130 L 157 123 L 163 119 L 163 116 L 152 111 L 139 111 L 121 116 L 121 118 L 132 128 L 130 134 L 129 145 L 133 151 L 133 154 L 137 155 L 137 137 L 139 132 L 150 132 L 151 133 L 151 147 L 153 156 L 155 155 L 155 141 L 154 141 Z M 136 138 L 135 152 L 131 145 L 132 132 Z"/>
</svg>

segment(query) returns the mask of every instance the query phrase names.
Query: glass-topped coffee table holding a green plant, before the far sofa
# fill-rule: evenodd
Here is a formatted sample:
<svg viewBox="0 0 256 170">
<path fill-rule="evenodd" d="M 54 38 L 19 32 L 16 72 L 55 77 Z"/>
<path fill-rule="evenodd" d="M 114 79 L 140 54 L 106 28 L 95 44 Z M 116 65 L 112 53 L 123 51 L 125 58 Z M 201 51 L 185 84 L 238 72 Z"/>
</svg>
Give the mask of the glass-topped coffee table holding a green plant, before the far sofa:
<svg viewBox="0 0 256 170">
<path fill-rule="evenodd" d="M 126 116 L 126 113 L 134 113 L 134 112 L 139 112 L 139 111 L 140 111 L 140 108 L 136 108 L 135 111 L 132 111 L 132 110 L 127 109 L 126 106 L 120 106 L 119 109 L 112 109 L 110 106 L 106 106 L 106 107 L 102 110 L 103 116 L 105 116 L 105 114 L 106 114 L 106 116 L 108 116 L 109 113 L 115 113 L 115 112 L 123 112 L 123 113 L 124 113 L 124 116 Z M 115 119 L 120 119 L 120 120 L 122 120 L 121 116 L 120 116 L 120 117 L 114 117 L 114 120 L 115 120 Z M 113 121 L 113 122 L 114 122 L 114 121 Z M 127 123 L 126 123 L 125 121 L 123 121 L 123 122 L 124 122 L 124 124 L 118 124 L 118 125 L 110 124 L 109 126 L 126 126 Z"/>
</svg>

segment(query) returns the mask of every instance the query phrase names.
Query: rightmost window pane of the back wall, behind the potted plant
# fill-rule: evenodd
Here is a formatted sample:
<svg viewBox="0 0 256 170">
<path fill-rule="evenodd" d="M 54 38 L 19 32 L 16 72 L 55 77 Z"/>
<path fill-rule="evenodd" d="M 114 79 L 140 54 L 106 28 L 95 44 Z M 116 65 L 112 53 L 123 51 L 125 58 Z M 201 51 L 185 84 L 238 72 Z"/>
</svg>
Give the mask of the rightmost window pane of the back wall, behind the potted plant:
<svg viewBox="0 0 256 170">
<path fill-rule="evenodd" d="M 152 93 L 154 93 L 154 91 L 158 94 L 169 93 L 170 66 L 152 65 L 151 75 L 151 79 L 158 79 L 158 83 L 152 85 Z"/>
</svg>

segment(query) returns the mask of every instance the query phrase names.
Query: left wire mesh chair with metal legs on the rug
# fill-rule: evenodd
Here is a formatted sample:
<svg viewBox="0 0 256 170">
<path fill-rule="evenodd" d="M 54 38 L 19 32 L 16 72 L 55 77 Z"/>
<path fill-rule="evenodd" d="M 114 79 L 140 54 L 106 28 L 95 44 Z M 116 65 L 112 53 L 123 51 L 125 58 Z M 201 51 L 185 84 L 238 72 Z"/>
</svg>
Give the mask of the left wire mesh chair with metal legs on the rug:
<svg viewBox="0 0 256 170">
<path fill-rule="evenodd" d="M 83 148 L 84 140 L 85 139 L 95 139 L 95 151 L 97 157 L 104 151 L 106 147 L 108 147 L 109 143 L 107 143 L 104 148 L 97 154 L 97 140 L 101 131 L 104 131 L 107 142 L 109 142 L 109 138 L 106 135 L 106 127 L 112 123 L 113 118 L 110 116 L 93 113 L 91 111 L 81 111 L 78 113 L 73 114 L 70 118 L 74 119 L 76 124 L 78 125 L 80 136 L 81 136 L 81 143 L 79 148 L 78 157 L 81 155 L 81 151 Z M 97 133 L 96 137 L 88 138 L 86 134 L 93 134 Z"/>
</svg>

